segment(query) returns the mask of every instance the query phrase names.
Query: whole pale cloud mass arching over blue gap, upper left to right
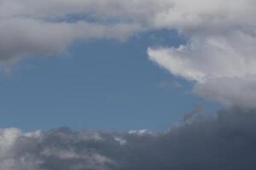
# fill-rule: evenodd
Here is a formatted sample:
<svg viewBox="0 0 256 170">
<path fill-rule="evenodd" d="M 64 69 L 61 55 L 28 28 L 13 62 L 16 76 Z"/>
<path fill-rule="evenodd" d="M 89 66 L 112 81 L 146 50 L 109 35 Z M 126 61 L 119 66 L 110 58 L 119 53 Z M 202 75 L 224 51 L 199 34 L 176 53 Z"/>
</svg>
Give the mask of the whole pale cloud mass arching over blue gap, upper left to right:
<svg viewBox="0 0 256 170">
<path fill-rule="evenodd" d="M 188 41 L 149 47 L 149 59 L 195 82 L 196 94 L 255 107 L 255 6 L 253 0 L 0 0 L 0 61 L 62 53 L 78 40 L 177 30 Z"/>
</svg>

